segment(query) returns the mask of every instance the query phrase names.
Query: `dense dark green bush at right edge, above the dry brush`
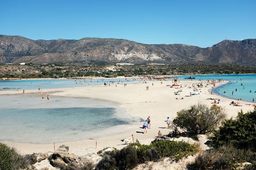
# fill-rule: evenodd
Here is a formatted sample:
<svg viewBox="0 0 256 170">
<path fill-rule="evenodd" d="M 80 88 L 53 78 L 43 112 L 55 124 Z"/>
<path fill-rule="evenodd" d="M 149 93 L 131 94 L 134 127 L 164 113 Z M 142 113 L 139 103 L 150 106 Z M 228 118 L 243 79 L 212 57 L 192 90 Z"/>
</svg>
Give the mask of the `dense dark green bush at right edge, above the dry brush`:
<svg viewBox="0 0 256 170">
<path fill-rule="evenodd" d="M 250 148 L 256 152 L 256 109 L 245 114 L 241 111 L 236 119 L 225 120 L 211 139 L 214 147 L 232 143 L 237 148 Z"/>
</svg>

